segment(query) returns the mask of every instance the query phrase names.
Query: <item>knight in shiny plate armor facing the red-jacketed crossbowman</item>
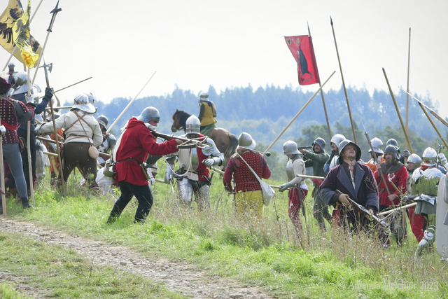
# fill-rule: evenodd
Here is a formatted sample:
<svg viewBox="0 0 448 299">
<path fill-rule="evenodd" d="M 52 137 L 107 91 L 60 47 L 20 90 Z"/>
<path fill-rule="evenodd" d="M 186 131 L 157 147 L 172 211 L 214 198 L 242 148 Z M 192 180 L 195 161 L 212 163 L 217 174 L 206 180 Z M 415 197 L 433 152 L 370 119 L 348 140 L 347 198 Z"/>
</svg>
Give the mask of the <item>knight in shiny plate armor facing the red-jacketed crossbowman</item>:
<svg viewBox="0 0 448 299">
<path fill-rule="evenodd" d="M 193 193 L 200 209 L 210 205 L 210 185 L 211 177 L 207 167 L 212 165 L 222 165 L 225 161 L 223 153 L 218 151 L 216 145 L 209 137 L 200 134 L 201 123 L 196 116 L 190 116 L 186 121 L 186 137 L 205 141 L 204 147 L 181 148 L 174 153 L 179 158 L 179 169 L 173 174 L 173 158 L 167 159 L 167 171 L 165 172 L 165 182 L 177 179 L 179 193 L 182 201 L 188 206 L 193 201 Z"/>
</svg>

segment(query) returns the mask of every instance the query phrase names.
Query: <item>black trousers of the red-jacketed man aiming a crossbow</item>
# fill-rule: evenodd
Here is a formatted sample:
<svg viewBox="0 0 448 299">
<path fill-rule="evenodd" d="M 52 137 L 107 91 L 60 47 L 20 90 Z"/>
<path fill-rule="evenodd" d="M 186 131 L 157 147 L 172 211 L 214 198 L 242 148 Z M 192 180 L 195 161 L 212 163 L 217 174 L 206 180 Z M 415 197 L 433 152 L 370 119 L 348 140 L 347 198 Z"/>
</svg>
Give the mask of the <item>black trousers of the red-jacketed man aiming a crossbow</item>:
<svg viewBox="0 0 448 299">
<path fill-rule="evenodd" d="M 151 211 L 151 207 L 153 207 L 153 193 L 151 193 L 149 185 L 137 186 L 126 181 L 120 181 L 118 184 L 121 196 L 113 205 L 110 218 L 116 219 L 120 217 L 127 204 L 131 201 L 132 196 L 135 195 L 139 201 L 139 206 L 135 212 L 135 221 L 144 222 L 149 211 Z"/>
</svg>

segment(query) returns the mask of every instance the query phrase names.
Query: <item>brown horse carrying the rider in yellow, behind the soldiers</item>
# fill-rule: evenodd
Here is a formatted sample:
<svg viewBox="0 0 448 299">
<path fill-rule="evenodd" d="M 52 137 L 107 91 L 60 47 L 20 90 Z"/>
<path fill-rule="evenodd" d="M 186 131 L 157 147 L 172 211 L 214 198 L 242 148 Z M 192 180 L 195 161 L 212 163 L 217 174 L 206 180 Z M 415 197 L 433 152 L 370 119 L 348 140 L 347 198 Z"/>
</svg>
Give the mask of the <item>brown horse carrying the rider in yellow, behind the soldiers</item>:
<svg viewBox="0 0 448 299">
<path fill-rule="evenodd" d="M 172 116 L 173 125 L 171 127 L 172 132 L 177 132 L 179 130 L 183 130 L 186 132 L 186 121 L 187 118 L 191 116 L 190 113 L 185 110 L 177 110 L 174 112 Z M 221 153 L 224 153 L 225 157 L 225 165 L 228 164 L 230 157 L 235 153 L 235 150 L 238 146 L 238 139 L 234 134 L 230 133 L 228 130 L 223 129 L 222 127 L 215 127 L 210 132 L 210 136 L 213 141 L 215 141 L 216 147 Z"/>
</svg>

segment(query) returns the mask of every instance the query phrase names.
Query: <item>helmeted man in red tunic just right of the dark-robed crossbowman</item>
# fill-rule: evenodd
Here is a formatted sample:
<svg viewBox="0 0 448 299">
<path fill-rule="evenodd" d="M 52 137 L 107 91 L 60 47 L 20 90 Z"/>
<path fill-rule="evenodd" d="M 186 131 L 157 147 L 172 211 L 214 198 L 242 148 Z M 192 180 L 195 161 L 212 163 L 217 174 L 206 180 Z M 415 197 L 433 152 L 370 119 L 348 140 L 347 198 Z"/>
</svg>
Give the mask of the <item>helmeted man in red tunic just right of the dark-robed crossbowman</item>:
<svg viewBox="0 0 448 299">
<path fill-rule="evenodd" d="M 374 173 L 375 180 L 379 189 L 379 211 L 386 211 L 393 209 L 400 204 L 403 194 L 406 194 L 407 186 L 407 169 L 405 165 L 398 160 L 400 158 L 398 153 L 398 147 L 388 145 L 384 148 L 384 162 L 377 165 L 377 171 Z M 387 183 L 387 188 L 384 186 L 384 181 L 381 179 L 383 173 L 384 181 Z M 395 187 L 400 190 L 395 190 Z M 406 236 L 407 226 L 406 221 L 402 221 L 402 211 L 395 213 L 393 216 L 388 217 L 388 222 L 391 223 L 391 232 L 395 237 L 397 244 L 400 246 L 404 237 Z M 404 224 L 403 224 L 404 223 Z M 389 239 L 388 230 L 380 232 L 379 237 L 383 240 L 384 247 L 389 246 L 391 243 Z"/>
</svg>

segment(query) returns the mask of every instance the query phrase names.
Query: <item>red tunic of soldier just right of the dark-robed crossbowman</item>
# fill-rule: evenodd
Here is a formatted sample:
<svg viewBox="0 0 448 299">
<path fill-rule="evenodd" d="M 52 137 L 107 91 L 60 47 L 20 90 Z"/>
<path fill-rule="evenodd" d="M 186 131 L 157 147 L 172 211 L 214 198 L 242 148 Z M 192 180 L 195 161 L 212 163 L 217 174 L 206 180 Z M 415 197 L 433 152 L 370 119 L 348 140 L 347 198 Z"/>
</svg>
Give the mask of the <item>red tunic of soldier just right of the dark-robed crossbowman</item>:
<svg viewBox="0 0 448 299">
<path fill-rule="evenodd" d="M 400 204 L 400 193 L 398 193 L 397 190 L 393 188 L 391 181 L 395 184 L 395 186 L 397 186 L 398 190 L 400 190 L 402 194 L 406 194 L 407 190 L 406 180 L 408 174 L 405 165 L 402 165 L 402 167 L 400 167 L 400 169 L 398 169 L 397 172 L 384 174 L 384 179 L 387 182 L 387 188 L 389 189 L 391 195 L 392 194 L 398 195 L 398 198 L 395 198 L 393 202 L 391 202 L 391 200 L 388 199 L 386 187 L 384 186 L 384 182 L 381 179 L 381 176 L 378 174 L 378 172 L 375 172 L 374 176 L 378 184 L 379 204 L 388 207 L 393 207 Z"/>
</svg>

